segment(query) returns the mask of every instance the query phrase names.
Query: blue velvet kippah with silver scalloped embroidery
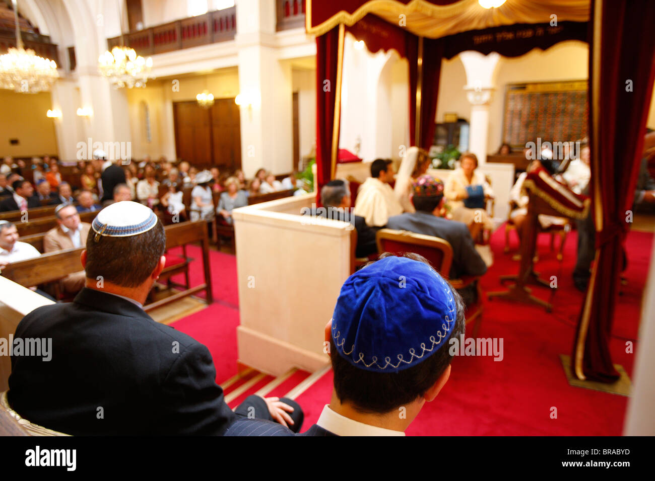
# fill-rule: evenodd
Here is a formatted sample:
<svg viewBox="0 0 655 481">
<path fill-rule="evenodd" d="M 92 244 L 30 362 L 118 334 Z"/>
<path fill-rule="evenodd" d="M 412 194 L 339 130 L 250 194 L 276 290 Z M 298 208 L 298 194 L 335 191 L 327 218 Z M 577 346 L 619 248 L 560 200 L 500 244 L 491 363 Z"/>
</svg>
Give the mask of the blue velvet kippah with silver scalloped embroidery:
<svg viewBox="0 0 655 481">
<path fill-rule="evenodd" d="M 346 279 L 332 316 L 332 340 L 355 367 L 398 372 L 445 347 L 456 318 L 451 287 L 434 269 L 385 257 Z"/>
</svg>

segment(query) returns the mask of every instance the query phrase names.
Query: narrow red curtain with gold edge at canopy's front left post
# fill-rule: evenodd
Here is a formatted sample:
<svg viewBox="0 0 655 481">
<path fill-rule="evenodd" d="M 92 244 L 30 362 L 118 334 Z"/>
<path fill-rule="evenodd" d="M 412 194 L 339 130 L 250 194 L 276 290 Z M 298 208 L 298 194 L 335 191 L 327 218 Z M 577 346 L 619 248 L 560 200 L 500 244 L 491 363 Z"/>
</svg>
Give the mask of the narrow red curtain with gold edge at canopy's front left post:
<svg viewBox="0 0 655 481">
<path fill-rule="evenodd" d="M 337 65 L 339 64 L 339 27 L 316 37 L 316 204 L 320 205 L 321 187 L 331 179 L 332 135 Z"/>
</svg>

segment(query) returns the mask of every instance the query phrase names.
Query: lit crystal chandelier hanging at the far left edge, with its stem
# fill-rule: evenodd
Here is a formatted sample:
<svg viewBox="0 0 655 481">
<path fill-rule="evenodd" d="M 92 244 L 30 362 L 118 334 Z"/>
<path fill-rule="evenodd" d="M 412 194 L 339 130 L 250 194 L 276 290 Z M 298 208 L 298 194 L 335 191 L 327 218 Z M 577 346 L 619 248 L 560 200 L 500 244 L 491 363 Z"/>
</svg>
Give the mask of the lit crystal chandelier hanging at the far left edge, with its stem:
<svg viewBox="0 0 655 481">
<path fill-rule="evenodd" d="M 7 54 L 0 55 L 0 88 L 24 94 L 50 90 L 52 83 L 59 77 L 57 64 L 54 60 L 37 56 L 30 48 L 27 50 L 23 48 L 16 0 L 12 0 L 12 5 L 16 22 L 17 48 L 11 47 L 7 50 Z"/>
</svg>

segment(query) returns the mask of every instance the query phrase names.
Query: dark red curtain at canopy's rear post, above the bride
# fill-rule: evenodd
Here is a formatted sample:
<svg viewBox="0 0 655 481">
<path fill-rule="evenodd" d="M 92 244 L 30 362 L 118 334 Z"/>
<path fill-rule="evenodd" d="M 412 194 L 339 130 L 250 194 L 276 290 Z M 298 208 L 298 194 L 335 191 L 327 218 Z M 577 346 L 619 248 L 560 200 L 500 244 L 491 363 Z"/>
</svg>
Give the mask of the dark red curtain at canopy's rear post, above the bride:
<svg viewBox="0 0 655 481">
<path fill-rule="evenodd" d="M 419 80 L 419 42 L 423 43 L 422 78 L 421 78 L 421 130 L 419 141 L 416 137 L 416 104 L 417 86 Z M 407 59 L 409 60 L 409 145 L 417 145 L 426 151 L 430 150 L 437 114 L 437 96 L 439 94 L 439 77 L 441 59 L 443 58 L 443 39 L 418 39 L 407 37 Z"/>
</svg>

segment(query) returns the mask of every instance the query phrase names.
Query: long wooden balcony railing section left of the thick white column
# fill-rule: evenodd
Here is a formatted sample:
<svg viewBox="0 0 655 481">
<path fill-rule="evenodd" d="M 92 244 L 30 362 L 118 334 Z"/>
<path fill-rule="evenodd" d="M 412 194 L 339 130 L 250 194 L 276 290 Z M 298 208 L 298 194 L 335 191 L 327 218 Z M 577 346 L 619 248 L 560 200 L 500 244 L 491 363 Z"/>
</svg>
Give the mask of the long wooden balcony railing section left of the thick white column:
<svg viewBox="0 0 655 481">
<path fill-rule="evenodd" d="M 181 48 L 224 42 L 234 39 L 236 9 L 214 10 L 124 35 L 126 46 L 142 56 L 172 52 Z M 121 37 L 107 39 L 109 50 L 121 45 Z"/>
</svg>

